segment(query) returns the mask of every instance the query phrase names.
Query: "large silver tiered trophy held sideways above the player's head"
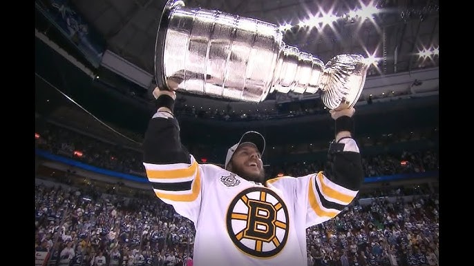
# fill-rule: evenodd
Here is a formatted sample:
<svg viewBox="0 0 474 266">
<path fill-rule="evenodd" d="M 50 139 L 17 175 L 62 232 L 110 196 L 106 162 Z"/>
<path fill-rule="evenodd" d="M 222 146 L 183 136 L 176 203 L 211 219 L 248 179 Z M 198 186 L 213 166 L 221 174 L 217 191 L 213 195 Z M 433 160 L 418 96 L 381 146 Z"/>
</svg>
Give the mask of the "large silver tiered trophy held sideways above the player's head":
<svg viewBox="0 0 474 266">
<path fill-rule="evenodd" d="M 324 64 L 286 45 L 274 24 L 218 10 L 163 3 L 155 45 L 155 77 L 162 90 L 258 103 L 268 94 L 314 94 L 329 109 L 357 103 L 368 63 L 340 54 Z"/>
</svg>

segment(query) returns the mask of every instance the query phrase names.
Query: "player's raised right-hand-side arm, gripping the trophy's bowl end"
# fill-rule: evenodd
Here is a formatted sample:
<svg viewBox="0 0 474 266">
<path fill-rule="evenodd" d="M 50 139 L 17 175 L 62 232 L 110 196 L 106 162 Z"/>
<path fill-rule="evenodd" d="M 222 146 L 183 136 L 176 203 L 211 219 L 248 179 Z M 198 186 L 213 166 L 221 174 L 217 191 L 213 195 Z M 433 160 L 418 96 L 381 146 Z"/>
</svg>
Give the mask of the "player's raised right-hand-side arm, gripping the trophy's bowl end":
<svg viewBox="0 0 474 266">
<path fill-rule="evenodd" d="M 301 209 L 305 227 L 328 221 L 349 205 L 361 187 L 363 171 L 361 154 L 352 139 L 354 109 L 330 111 L 335 121 L 335 138 L 328 151 L 325 171 L 298 178 L 281 177 L 269 180 L 281 190 L 292 190 Z"/>
</svg>

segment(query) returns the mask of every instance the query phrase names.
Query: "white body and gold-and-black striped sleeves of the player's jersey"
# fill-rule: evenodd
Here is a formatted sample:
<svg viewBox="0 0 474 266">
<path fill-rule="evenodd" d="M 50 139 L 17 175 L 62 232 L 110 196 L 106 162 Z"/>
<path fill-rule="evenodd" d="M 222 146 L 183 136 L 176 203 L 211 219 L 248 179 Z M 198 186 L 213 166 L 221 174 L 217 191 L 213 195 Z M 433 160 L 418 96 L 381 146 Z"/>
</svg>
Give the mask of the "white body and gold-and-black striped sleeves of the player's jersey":
<svg viewBox="0 0 474 266">
<path fill-rule="evenodd" d="M 343 139 L 344 152 L 359 152 Z M 156 196 L 196 227 L 196 266 L 305 266 L 306 228 L 333 218 L 357 191 L 323 172 L 262 185 L 216 165 L 144 163 Z"/>
</svg>

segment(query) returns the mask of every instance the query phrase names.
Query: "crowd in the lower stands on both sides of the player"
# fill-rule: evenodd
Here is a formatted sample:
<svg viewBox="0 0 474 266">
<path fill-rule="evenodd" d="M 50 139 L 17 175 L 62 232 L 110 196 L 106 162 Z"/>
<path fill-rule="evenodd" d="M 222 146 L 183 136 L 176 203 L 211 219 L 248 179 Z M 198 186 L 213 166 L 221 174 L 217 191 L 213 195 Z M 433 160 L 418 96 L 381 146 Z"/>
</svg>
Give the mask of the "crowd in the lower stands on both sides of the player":
<svg viewBox="0 0 474 266">
<path fill-rule="evenodd" d="M 51 184 L 37 179 L 35 194 L 35 251 L 50 252 L 48 265 L 192 265 L 193 224 L 151 190 L 133 198 Z M 344 265 L 343 255 L 348 265 L 438 265 L 438 205 L 428 187 L 359 194 L 307 229 L 308 265 Z"/>
</svg>

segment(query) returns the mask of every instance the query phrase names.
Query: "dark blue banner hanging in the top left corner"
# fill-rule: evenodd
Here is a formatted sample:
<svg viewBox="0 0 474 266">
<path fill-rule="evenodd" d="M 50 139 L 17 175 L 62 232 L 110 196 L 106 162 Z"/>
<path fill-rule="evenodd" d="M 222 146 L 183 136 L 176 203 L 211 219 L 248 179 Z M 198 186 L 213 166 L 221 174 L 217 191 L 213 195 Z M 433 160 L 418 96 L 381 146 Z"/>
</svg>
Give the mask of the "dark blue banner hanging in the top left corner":
<svg viewBox="0 0 474 266">
<path fill-rule="evenodd" d="M 99 67 L 106 50 L 105 41 L 80 14 L 73 10 L 68 0 L 37 0 L 35 5 L 95 68 Z"/>
</svg>

